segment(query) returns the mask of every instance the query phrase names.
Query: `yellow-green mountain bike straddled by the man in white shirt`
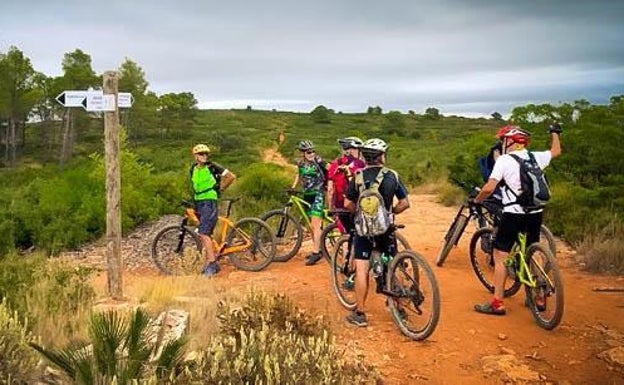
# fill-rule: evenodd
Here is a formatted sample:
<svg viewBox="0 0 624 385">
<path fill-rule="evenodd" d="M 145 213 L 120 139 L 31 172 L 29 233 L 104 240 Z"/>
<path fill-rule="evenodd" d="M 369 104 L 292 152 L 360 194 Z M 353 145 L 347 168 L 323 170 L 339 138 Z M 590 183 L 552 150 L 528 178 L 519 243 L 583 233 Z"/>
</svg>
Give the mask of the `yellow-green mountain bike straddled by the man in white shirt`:
<svg viewBox="0 0 624 385">
<path fill-rule="evenodd" d="M 470 263 L 479 281 L 494 293 L 493 248 L 483 250 L 479 244 L 492 244 L 495 233 L 491 228 L 477 230 L 470 240 Z M 533 318 L 544 329 L 554 329 L 563 317 L 563 281 L 551 251 L 540 243 L 526 244 L 526 234 L 520 233 L 509 257 L 505 260 L 508 275 L 505 297 L 512 296 L 524 285 L 526 305 Z M 511 283 L 510 286 L 507 286 Z M 553 303 L 554 302 L 554 303 Z"/>
</svg>

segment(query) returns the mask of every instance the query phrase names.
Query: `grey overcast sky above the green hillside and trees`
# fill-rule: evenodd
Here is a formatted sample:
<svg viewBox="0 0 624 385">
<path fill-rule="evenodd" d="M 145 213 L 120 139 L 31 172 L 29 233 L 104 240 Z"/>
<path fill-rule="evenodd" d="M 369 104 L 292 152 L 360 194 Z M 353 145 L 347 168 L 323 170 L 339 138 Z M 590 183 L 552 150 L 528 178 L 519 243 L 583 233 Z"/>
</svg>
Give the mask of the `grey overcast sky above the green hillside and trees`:
<svg viewBox="0 0 624 385">
<path fill-rule="evenodd" d="M 130 58 L 200 108 L 506 114 L 624 94 L 622 0 L 0 0 L 0 52 Z"/>
</svg>

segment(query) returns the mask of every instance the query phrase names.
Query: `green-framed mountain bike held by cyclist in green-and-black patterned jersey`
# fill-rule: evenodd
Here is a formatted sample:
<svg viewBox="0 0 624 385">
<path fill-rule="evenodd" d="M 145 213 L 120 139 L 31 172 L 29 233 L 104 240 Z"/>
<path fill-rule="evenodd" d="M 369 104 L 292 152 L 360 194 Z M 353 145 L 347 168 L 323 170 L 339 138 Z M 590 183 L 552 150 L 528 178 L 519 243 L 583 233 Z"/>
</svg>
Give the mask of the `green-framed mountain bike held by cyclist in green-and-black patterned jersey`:
<svg viewBox="0 0 624 385">
<path fill-rule="evenodd" d="M 268 211 L 260 216 L 260 219 L 265 221 L 275 233 L 277 251 L 273 260 L 277 262 L 286 262 L 294 257 L 299 252 L 304 238 L 312 234 L 310 217 L 306 212 L 310 204 L 301 197 L 303 192 L 287 189 L 285 193 L 289 198 L 284 207 Z M 334 223 L 334 218 L 328 210 L 324 210 L 321 220 L 322 228 Z M 323 249 L 328 250 L 336 238 L 337 233 L 326 234 L 321 242 L 321 252 Z M 326 245 L 326 242 L 329 245 Z"/>
</svg>

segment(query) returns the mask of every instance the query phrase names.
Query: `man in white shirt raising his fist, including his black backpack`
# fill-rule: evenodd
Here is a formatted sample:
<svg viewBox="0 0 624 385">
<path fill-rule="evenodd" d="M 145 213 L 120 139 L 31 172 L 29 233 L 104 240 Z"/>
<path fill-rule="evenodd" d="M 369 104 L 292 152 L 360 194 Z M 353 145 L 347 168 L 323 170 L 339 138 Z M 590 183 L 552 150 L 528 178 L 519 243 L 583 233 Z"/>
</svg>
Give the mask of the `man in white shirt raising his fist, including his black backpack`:
<svg viewBox="0 0 624 385">
<path fill-rule="evenodd" d="M 519 127 L 505 126 L 497 134 L 502 140 L 503 155 L 496 160 L 488 181 L 474 198 L 474 203 L 480 204 L 501 182 L 504 182 L 503 215 L 493 244 L 494 298 L 489 303 L 475 305 L 475 310 L 479 313 L 493 315 L 506 313 L 503 304 L 507 278 L 505 260 L 518 234 L 526 233 L 527 245 L 539 242 L 542 211 L 550 198 L 550 190 L 542 170 L 553 158 L 561 155 L 559 142 L 561 131 L 559 124 L 550 125 L 550 150 L 540 152 L 527 150 L 531 134 Z M 535 301 L 539 308 L 540 299 L 536 298 Z"/>
</svg>

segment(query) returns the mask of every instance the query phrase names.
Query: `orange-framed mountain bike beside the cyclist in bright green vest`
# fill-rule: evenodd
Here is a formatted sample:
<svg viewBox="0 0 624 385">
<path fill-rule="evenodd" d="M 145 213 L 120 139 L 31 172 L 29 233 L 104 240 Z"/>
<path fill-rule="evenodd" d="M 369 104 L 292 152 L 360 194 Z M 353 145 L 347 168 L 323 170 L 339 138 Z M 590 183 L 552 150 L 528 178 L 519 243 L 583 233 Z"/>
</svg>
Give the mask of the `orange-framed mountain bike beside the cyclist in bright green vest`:
<svg viewBox="0 0 624 385">
<path fill-rule="evenodd" d="M 232 205 L 240 198 L 220 199 L 226 203 L 225 216 L 219 216 L 212 236 L 217 260 L 228 256 L 236 268 L 260 271 L 275 256 L 275 236 L 258 218 L 229 219 Z M 198 213 L 193 203 L 182 201 L 184 217 L 180 224 L 162 228 L 154 237 L 151 256 L 160 271 L 168 275 L 199 274 L 205 264 L 202 242 L 197 233 Z"/>
</svg>

